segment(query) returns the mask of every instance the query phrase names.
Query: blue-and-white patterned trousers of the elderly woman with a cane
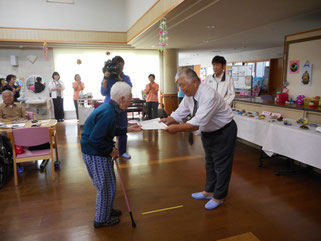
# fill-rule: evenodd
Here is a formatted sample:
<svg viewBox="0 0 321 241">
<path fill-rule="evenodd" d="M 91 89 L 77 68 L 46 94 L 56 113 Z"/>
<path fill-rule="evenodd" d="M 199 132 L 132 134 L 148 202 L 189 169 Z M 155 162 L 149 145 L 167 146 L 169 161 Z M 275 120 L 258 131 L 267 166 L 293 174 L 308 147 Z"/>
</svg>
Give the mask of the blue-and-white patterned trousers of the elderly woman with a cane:
<svg viewBox="0 0 321 241">
<path fill-rule="evenodd" d="M 82 154 L 88 174 L 97 188 L 95 221 L 104 223 L 109 220 L 116 194 L 116 178 L 111 157 Z"/>
</svg>

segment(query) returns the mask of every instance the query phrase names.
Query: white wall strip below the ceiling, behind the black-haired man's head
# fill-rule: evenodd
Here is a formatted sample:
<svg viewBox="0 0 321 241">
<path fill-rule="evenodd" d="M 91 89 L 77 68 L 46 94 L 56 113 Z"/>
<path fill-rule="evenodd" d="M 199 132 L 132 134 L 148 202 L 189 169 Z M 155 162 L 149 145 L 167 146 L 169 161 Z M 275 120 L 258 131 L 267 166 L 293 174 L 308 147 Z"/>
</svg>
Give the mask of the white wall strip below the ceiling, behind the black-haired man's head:
<svg viewBox="0 0 321 241">
<path fill-rule="evenodd" d="M 244 51 L 238 53 L 214 53 L 214 52 L 196 52 L 196 53 L 179 53 L 179 66 L 201 65 L 207 68 L 207 74 L 212 74 L 212 59 L 215 55 L 224 56 L 227 62 L 251 61 L 278 58 L 283 56 L 283 47 L 260 49 L 253 51 Z"/>
</svg>

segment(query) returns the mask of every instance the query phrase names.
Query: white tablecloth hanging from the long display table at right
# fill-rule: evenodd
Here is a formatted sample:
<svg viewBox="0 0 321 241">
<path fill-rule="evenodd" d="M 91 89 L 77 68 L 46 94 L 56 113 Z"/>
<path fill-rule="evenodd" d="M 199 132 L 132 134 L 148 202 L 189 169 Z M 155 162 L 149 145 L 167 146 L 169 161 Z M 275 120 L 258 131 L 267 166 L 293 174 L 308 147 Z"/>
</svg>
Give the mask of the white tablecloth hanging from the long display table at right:
<svg viewBox="0 0 321 241">
<path fill-rule="evenodd" d="M 321 133 L 310 127 L 303 130 L 295 120 L 268 122 L 257 117 L 234 115 L 238 127 L 237 136 L 262 147 L 269 156 L 280 154 L 321 169 Z"/>
</svg>

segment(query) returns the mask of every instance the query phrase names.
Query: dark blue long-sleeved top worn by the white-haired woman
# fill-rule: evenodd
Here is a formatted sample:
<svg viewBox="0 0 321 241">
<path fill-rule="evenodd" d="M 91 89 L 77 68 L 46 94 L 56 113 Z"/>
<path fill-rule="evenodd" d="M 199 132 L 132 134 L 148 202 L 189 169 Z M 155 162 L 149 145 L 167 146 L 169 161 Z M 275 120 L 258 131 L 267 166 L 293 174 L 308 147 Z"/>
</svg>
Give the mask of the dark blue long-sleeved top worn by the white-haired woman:
<svg viewBox="0 0 321 241">
<path fill-rule="evenodd" d="M 119 112 L 118 104 L 111 100 L 89 115 L 81 133 L 82 153 L 109 157 L 115 144 L 114 137 L 125 135 L 127 132 L 127 126 L 117 126 Z"/>
</svg>

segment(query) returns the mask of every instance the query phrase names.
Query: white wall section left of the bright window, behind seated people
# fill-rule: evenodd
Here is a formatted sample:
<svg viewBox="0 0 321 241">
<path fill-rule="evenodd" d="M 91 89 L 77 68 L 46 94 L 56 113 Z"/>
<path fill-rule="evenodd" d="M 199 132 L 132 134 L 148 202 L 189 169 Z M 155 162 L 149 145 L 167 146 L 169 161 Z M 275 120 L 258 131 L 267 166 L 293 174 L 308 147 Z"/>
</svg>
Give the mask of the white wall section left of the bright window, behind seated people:
<svg viewBox="0 0 321 241">
<path fill-rule="evenodd" d="M 10 55 L 18 56 L 18 67 L 14 67 L 10 63 Z M 37 56 L 34 64 L 28 59 L 28 55 Z M 7 76 L 14 74 L 18 78 L 26 78 L 30 75 L 41 75 L 46 83 L 51 79 L 54 72 L 52 60 L 52 50 L 48 51 L 49 59 L 44 58 L 42 49 L 0 49 L 0 75 Z"/>
</svg>

